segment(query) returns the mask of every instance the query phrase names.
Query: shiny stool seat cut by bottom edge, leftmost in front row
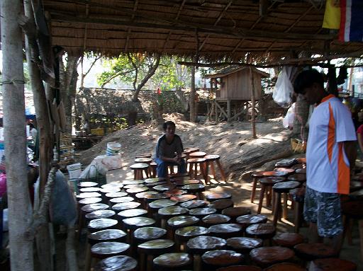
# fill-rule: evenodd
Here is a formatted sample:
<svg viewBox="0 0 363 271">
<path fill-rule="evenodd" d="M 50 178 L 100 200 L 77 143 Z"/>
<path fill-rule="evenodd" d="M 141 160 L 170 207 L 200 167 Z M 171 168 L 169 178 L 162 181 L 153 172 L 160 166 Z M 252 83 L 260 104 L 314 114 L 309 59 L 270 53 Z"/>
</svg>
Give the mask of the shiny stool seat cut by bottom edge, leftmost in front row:
<svg viewBox="0 0 363 271">
<path fill-rule="evenodd" d="M 138 262 L 134 258 L 122 255 L 101 260 L 94 271 L 135 271 L 137 266 Z"/>
</svg>

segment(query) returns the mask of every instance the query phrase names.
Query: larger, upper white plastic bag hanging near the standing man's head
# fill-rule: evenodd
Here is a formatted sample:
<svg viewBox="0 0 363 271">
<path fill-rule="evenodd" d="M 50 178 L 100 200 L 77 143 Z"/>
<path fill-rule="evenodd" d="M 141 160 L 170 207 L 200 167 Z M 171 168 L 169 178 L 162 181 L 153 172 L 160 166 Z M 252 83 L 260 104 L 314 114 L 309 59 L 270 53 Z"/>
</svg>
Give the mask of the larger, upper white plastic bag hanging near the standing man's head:
<svg viewBox="0 0 363 271">
<path fill-rule="evenodd" d="M 287 74 L 286 69 L 282 69 L 281 73 L 279 74 L 279 78 L 277 78 L 272 98 L 278 105 L 286 106 L 291 103 L 291 95 L 293 91 L 294 87 L 292 86 L 292 83 L 289 79 L 289 75 Z"/>
</svg>

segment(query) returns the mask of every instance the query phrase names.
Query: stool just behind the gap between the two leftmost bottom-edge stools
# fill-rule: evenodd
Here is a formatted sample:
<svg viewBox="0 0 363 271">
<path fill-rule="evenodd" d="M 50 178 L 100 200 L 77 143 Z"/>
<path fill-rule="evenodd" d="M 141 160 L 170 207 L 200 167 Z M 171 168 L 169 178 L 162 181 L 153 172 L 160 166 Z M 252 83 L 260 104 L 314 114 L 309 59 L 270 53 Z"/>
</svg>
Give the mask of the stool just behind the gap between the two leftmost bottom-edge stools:
<svg viewBox="0 0 363 271">
<path fill-rule="evenodd" d="M 138 245 L 138 252 L 140 253 L 140 270 L 145 270 L 146 260 L 146 270 L 151 271 L 154 256 L 171 252 L 173 249 L 174 242 L 169 239 L 156 239 L 140 243 L 140 245 Z"/>
</svg>

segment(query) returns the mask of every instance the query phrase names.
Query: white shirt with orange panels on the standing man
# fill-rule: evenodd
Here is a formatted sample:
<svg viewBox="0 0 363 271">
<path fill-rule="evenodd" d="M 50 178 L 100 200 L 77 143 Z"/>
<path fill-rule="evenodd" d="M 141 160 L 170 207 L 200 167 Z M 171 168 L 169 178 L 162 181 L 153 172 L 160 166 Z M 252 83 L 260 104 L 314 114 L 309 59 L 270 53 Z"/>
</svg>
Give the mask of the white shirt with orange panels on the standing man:
<svg viewBox="0 0 363 271">
<path fill-rule="evenodd" d="M 357 140 L 352 115 L 332 94 L 316 106 L 309 122 L 306 180 L 319 192 L 349 194 L 350 162 L 343 142 Z"/>
</svg>

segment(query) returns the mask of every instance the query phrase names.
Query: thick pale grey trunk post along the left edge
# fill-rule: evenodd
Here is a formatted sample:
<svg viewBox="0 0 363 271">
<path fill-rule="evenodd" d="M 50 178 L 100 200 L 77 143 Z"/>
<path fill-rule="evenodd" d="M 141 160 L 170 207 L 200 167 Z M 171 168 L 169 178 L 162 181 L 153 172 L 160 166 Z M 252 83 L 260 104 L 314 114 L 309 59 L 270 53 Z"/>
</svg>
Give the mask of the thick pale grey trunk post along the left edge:
<svg viewBox="0 0 363 271">
<path fill-rule="evenodd" d="M 17 23 L 21 2 L 1 1 L 3 51 L 3 109 L 6 177 L 9 204 L 11 270 L 33 270 L 33 238 L 28 236 L 32 217 L 26 163 L 24 122 L 23 40 Z"/>
</svg>

